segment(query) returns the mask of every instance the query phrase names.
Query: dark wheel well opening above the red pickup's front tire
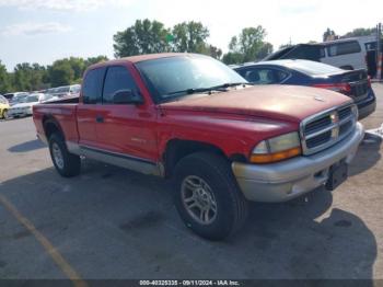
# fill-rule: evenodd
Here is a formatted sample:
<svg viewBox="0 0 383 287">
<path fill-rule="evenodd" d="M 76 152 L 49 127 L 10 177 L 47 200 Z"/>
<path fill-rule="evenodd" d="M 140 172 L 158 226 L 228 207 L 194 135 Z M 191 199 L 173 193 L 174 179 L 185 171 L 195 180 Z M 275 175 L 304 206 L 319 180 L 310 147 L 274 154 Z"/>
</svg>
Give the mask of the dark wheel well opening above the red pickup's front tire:
<svg viewBox="0 0 383 287">
<path fill-rule="evenodd" d="M 182 158 L 197 151 L 209 151 L 225 157 L 224 152 L 221 149 L 210 144 L 195 140 L 172 139 L 167 142 L 165 152 L 163 154 L 165 176 L 170 177 L 172 175 L 175 165 Z M 236 157 L 237 154 L 234 156 Z"/>
</svg>

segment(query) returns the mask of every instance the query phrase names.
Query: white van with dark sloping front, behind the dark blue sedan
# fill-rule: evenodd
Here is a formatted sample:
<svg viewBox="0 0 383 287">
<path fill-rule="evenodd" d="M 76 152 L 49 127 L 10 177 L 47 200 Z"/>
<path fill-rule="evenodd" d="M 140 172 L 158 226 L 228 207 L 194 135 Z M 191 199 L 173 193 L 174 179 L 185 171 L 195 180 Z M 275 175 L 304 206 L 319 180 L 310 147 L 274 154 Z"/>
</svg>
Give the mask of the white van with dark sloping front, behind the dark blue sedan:
<svg viewBox="0 0 383 287">
<path fill-rule="evenodd" d="M 270 54 L 263 59 L 263 61 L 306 59 L 321 61 L 345 70 L 367 69 L 373 73 L 373 69 L 376 68 L 376 62 L 371 62 L 372 58 L 369 57 L 369 51 L 375 49 L 375 36 L 361 36 L 318 44 L 293 45 Z"/>
</svg>

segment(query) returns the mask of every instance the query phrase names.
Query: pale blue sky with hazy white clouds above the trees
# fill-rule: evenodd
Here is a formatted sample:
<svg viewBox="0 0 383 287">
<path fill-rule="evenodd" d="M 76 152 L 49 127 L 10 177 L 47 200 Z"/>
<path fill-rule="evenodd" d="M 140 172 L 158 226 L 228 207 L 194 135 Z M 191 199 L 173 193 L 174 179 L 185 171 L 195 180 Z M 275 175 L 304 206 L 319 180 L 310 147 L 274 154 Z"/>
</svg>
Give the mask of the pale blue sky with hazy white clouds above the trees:
<svg viewBox="0 0 383 287">
<path fill-rule="evenodd" d="M 327 27 L 373 27 L 382 11 L 382 0 L 0 0 L 0 59 L 12 70 L 69 56 L 113 58 L 113 35 L 146 18 L 165 26 L 200 21 L 223 51 L 243 27 L 262 25 L 278 48 L 321 41 Z"/>
</svg>

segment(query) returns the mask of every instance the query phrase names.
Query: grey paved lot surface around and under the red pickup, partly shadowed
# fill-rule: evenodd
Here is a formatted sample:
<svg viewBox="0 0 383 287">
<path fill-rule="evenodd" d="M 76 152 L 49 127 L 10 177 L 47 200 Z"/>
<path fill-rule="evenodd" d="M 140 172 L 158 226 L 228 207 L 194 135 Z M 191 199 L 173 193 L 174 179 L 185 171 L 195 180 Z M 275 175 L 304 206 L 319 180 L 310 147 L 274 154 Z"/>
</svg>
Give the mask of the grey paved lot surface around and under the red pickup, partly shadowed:
<svg viewBox="0 0 383 287">
<path fill-rule="evenodd" d="M 383 84 L 374 90 L 368 129 L 383 123 Z M 92 161 L 62 179 L 31 117 L 0 122 L 0 278 L 383 279 L 381 152 L 364 140 L 335 192 L 253 204 L 235 238 L 209 242 L 184 227 L 166 182 Z"/>
</svg>

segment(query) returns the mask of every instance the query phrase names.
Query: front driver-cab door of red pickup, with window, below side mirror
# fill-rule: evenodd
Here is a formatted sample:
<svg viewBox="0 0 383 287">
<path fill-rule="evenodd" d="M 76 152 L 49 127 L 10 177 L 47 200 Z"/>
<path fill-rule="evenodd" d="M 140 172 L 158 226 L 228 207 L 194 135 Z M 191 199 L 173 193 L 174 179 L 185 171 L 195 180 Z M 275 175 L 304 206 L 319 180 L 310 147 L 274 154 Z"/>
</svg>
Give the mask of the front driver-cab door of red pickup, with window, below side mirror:
<svg viewBox="0 0 383 287">
<path fill-rule="evenodd" d="M 127 104 L 120 97 L 115 102 L 120 91 L 140 94 L 128 66 L 111 66 L 96 115 L 98 146 L 116 158 L 153 163 L 156 161 L 155 111 L 148 103 Z"/>
</svg>

